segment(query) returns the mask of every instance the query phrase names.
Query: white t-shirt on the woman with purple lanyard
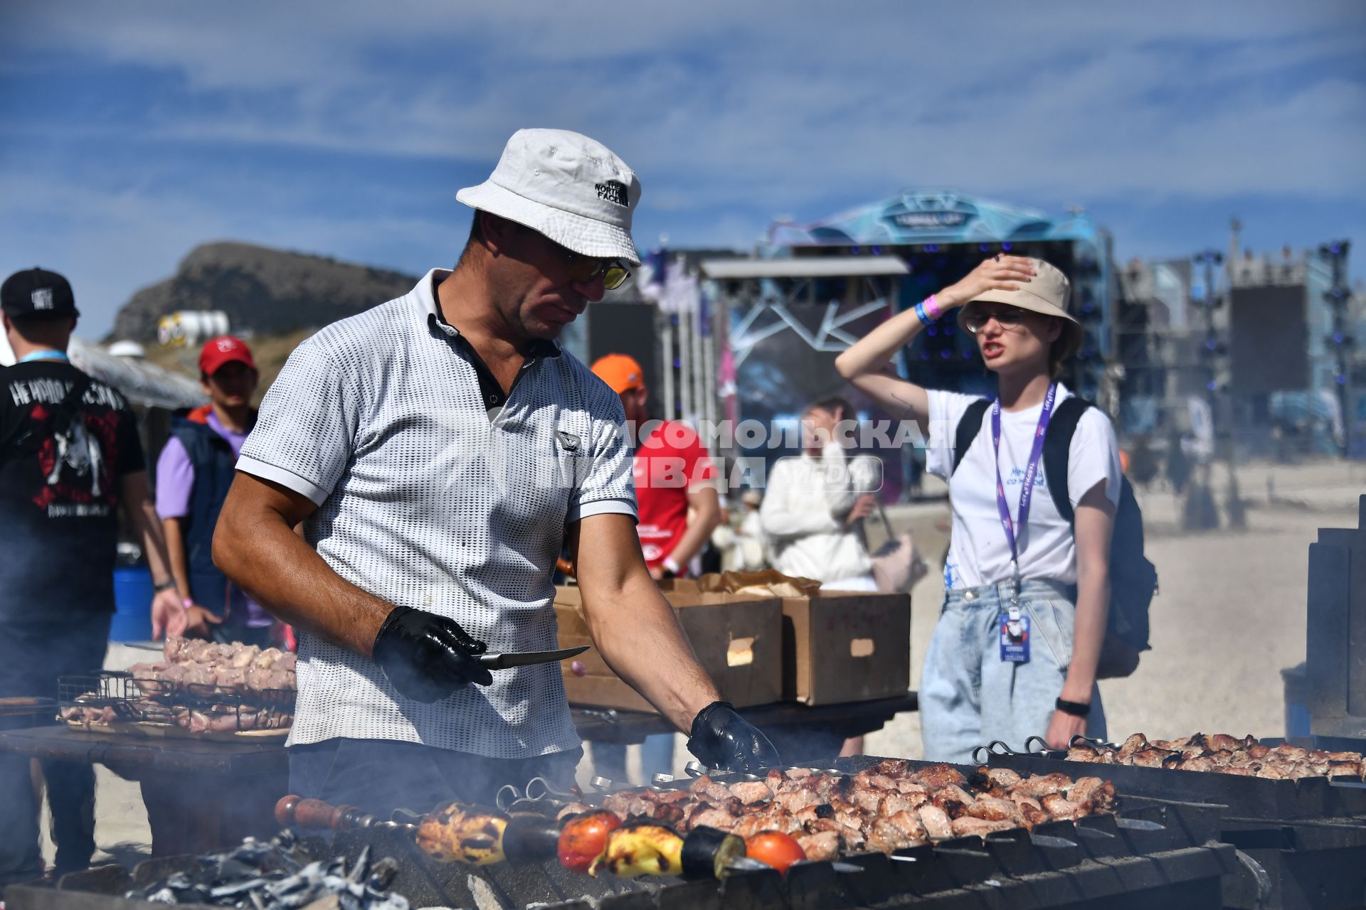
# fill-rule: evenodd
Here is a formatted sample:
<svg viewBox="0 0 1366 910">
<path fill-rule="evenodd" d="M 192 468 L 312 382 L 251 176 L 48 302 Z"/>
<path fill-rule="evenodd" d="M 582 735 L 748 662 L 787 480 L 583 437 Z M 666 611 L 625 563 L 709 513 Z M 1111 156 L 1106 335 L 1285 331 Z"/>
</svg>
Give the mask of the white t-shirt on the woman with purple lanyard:
<svg viewBox="0 0 1366 910">
<path fill-rule="evenodd" d="M 1071 392 L 1057 385 L 1055 412 Z M 929 392 L 930 420 L 929 447 L 925 469 L 948 480 L 949 508 L 953 529 L 949 538 L 948 562 L 944 565 L 945 588 L 975 588 L 984 584 L 1009 581 L 1011 544 L 1005 539 L 1001 517 L 996 508 L 996 468 L 992 464 L 992 409 L 982 413 L 978 430 L 958 471 L 953 471 L 953 438 L 958 422 L 977 396 L 956 392 Z M 1076 584 L 1076 546 L 1072 527 L 1063 520 L 1048 490 L 1048 475 L 1042 458 L 1034 475 L 1034 495 L 1030 501 L 1029 524 L 1019 527 L 1020 483 L 1029 465 L 1034 431 L 1044 409 L 1038 404 L 1026 411 L 1001 412 L 1001 480 L 1011 518 L 1016 521 L 1020 578 L 1050 578 L 1063 584 Z M 1067 463 L 1067 498 L 1072 508 L 1100 482 L 1105 482 L 1105 495 L 1116 506 L 1120 494 L 1119 443 L 1109 419 L 1098 408 L 1087 408 L 1076 423 Z"/>
</svg>

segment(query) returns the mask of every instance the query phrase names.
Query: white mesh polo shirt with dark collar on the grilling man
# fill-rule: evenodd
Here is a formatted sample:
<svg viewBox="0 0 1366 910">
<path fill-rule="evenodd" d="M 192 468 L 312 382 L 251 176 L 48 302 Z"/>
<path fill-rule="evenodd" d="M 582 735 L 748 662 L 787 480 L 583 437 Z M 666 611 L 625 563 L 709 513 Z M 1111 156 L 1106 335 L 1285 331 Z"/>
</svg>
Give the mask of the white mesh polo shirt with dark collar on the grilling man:
<svg viewBox="0 0 1366 910">
<path fill-rule="evenodd" d="M 566 527 L 635 516 L 622 402 L 545 345 L 489 407 L 477 355 L 438 315 L 433 278 L 447 274 L 301 344 L 238 469 L 318 503 L 305 538 L 351 584 L 451 617 L 489 651 L 552 649 Z M 374 662 L 305 634 L 298 681 L 291 744 L 395 739 L 494 759 L 579 745 L 557 663 L 494 670 L 488 688 L 422 704 Z"/>
</svg>

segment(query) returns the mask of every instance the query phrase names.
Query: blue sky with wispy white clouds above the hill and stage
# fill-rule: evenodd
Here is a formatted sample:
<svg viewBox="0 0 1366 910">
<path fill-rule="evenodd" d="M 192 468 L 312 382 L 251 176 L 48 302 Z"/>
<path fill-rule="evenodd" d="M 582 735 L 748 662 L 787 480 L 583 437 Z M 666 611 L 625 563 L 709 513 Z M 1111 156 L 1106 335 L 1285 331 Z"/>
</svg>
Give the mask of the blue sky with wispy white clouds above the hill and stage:
<svg viewBox="0 0 1366 910">
<path fill-rule="evenodd" d="M 911 187 L 1083 205 L 1116 255 L 1358 243 L 1366 3 L 184 3 L 0 8 L 0 270 L 102 336 L 198 243 L 422 271 L 525 126 L 641 176 L 635 236 L 747 248 Z"/>
</svg>

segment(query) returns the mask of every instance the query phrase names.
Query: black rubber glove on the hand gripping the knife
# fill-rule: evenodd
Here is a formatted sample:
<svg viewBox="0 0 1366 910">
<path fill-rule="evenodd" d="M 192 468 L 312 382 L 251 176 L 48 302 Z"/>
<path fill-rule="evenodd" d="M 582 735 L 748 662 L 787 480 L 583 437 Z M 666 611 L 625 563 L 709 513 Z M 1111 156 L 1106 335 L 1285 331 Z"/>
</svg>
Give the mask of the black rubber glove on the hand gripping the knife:
<svg viewBox="0 0 1366 910">
<path fill-rule="evenodd" d="M 432 703 L 471 682 L 493 682 L 493 674 L 474 658 L 488 649 L 455 619 L 393 607 L 374 636 L 373 655 L 399 694 Z"/>
</svg>

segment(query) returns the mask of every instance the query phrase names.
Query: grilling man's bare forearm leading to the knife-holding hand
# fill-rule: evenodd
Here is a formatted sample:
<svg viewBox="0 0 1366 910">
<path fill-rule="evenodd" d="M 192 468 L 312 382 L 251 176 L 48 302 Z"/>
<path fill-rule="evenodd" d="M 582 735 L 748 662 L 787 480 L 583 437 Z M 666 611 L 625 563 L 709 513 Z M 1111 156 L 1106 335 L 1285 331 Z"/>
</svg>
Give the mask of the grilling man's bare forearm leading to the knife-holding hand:
<svg viewBox="0 0 1366 910">
<path fill-rule="evenodd" d="M 332 570 L 280 514 L 224 505 L 213 561 L 281 621 L 369 658 L 393 604 Z"/>
</svg>

